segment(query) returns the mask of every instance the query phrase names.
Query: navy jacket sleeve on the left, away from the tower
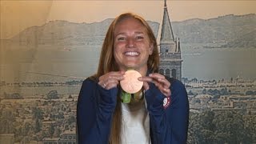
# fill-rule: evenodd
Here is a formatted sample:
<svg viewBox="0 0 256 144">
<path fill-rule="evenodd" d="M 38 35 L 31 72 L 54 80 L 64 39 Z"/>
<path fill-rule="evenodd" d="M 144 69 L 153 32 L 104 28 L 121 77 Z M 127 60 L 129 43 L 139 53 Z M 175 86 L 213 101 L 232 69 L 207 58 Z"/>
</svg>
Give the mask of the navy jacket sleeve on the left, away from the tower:
<svg viewBox="0 0 256 144">
<path fill-rule="evenodd" d="M 105 90 L 88 78 L 82 83 L 77 104 L 79 144 L 108 142 L 117 91 Z"/>
</svg>

